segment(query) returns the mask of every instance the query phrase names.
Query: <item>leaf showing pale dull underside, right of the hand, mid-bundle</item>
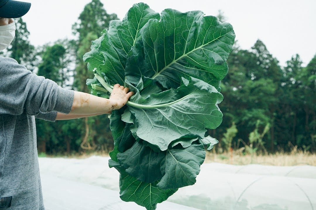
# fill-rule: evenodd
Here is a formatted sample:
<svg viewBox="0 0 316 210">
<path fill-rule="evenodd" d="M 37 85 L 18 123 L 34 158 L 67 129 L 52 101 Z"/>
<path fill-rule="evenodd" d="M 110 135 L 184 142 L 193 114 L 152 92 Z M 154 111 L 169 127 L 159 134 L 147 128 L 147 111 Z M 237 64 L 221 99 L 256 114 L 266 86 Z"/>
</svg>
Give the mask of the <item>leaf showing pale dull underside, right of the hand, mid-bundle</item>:
<svg viewBox="0 0 316 210">
<path fill-rule="evenodd" d="M 183 78 L 183 84 L 177 90 L 132 100 L 142 105 L 161 105 L 159 108 L 128 107 L 135 116 L 137 130 L 134 136 L 165 151 L 174 140 L 204 137 L 205 128 L 215 129 L 221 124 L 222 112 L 217 104 L 222 101 L 222 94 L 204 81 L 189 79 Z"/>
</svg>

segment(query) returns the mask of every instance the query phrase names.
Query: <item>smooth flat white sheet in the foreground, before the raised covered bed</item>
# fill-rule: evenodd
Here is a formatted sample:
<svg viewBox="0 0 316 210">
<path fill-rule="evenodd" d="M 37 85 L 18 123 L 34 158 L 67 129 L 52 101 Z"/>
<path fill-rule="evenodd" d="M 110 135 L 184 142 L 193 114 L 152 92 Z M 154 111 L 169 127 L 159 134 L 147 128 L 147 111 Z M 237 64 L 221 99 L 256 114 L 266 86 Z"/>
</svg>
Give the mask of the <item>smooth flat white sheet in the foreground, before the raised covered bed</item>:
<svg viewBox="0 0 316 210">
<path fill-rule="evenodd" d="M 123 202 L 118 191 L 44 173 L 42 190 L 46 210 L 145 210 L 134 202 Z M 176 203 L 159 204 L 164 210 L 197 210 Z"/>
</svg>

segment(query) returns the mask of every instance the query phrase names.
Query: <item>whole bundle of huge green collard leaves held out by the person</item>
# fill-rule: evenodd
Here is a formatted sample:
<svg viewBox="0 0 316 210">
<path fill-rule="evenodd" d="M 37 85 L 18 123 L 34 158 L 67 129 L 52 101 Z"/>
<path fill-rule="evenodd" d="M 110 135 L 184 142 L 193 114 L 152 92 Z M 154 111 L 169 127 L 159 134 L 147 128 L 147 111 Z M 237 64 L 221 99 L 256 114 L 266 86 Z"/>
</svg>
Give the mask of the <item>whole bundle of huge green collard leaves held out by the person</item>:
<svg viewBox="0 0 316 210">
<path fill-rule="evenodd" d="M 135 92 L 110 123 L 109 166 L 120 172 L 123 201 L 155 209 L 196 182 L 204 146 L 217 143 L 205 133 L 222 122 L 219 86 L 234 38 L 230 24 L 201 11 L 160 15 L 137 3 L 92 42 L 84 56 L 92 94 L 109 97 L 116 83 Z"/>
</svg>

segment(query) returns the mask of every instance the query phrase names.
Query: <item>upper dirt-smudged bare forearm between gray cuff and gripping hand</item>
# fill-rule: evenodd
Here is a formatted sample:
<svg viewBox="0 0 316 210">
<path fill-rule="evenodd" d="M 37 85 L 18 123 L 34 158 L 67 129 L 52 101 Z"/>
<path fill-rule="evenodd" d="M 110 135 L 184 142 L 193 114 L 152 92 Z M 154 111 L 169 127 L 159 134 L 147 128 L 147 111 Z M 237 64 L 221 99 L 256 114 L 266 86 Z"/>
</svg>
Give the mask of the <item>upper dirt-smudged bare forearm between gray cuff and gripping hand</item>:
<svg viewBox="0 0 316 210">
<path fill-rule="evenodd" d="M 74 102 L 69 114 L 94 116 L 111 112 L 117 106 L 117 103 L 110 99 L 75 91 Z"/>
</svg>

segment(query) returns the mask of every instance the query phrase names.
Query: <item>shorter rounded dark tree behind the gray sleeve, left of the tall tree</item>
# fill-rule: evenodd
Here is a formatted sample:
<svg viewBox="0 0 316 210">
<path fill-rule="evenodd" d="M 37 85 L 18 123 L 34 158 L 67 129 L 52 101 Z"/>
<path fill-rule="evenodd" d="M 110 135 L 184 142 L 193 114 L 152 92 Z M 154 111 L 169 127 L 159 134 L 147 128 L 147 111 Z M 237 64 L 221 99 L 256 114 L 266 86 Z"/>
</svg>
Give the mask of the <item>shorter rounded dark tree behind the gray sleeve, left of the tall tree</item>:
<svg viewBox="0 0 316 210">
<path fill-rule="evenodd" d="M 38 75 L 55 81 L 61 87 L 68 87 L 70 81 L 70 58 L 67 40 L 59 40 L 52 46 L 43 47 L 40 52 L 42 61 L 38 66 Z M 80 119 L 48 122 L 36 119 L 37 141 L 40 152 L 70 153 L 78 151 L 77 139 L 82 135 Z"/>
</svg>

